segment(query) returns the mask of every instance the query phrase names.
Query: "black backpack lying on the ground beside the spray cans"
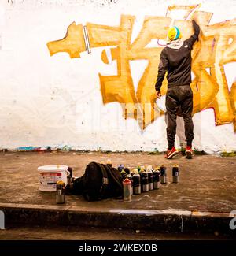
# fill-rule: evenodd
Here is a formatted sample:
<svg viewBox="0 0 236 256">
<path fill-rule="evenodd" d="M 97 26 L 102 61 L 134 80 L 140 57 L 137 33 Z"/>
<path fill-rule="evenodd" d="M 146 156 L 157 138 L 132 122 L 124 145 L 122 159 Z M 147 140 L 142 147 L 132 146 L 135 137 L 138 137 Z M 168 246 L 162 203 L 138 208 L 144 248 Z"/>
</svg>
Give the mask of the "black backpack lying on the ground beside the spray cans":
<svg viewBox="0 0 236 256">
<path fill-rule="evenodd" d="M 74 181 L 72 194 L 82 194 L 87 201 L 121 197 L 122 177 L 116 168 L 92 161 L 83 176 Z"/>
</svg>

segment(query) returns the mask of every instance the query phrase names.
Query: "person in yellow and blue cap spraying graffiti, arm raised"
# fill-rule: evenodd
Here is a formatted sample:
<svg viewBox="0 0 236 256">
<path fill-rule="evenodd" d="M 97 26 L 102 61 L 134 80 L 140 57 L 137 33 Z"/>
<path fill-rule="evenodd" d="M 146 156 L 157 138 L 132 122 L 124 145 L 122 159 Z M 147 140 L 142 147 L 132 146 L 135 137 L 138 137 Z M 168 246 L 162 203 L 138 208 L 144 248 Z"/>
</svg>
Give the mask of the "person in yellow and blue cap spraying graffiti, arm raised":
<svg viewBox="0 0 236 256">
<path fill-rule="evenodd" d="M 194 123 L 192 120 L 193 111 L 193 92 L 190 87 L 191 80 L 191 50 L 198 35 L 200 28 L 195 20 L 192 20 L 194 35 L 183 41 L 179 28 L 172 27 L 168 30 L 169 43 L 160 54 L 160 64 L 158 67 L 157 82 L 155 89 L 157 98 L 160 98 L 160 87 L 164 80 L 164 75 L 168 72 L 168 91 L 166 94 L 167 109 L 167 139 L 168 150 L 166 158 L 170 159 L 178 150 L 175 149 L 176 117 L 179 109 L 184 121 L 186 135 L 186 158 L 192 158 L 192 141 L 194 139 Z"/>
</svg>

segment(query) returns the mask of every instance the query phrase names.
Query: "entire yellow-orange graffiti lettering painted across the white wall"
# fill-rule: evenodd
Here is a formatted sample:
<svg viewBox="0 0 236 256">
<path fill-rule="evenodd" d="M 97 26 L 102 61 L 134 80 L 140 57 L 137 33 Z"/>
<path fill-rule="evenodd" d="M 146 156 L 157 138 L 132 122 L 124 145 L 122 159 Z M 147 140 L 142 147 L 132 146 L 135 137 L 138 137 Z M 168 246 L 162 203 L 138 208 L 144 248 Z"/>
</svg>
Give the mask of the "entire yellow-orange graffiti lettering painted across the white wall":
<svg viewBox="0 0 236 256">
<path fill-rule="evenodd" d="M 102 76 L 99 74 L 103 103 L 120 102 L 124 118 L 135 118 L 141 129 L 160 117 L 163 112 L 157 107 L 154 84 L 157 79 L 161 45 L 148 47 L 154 39 L 165 40 L 168 28 L 175 24 L 183 33 L 183 39 L 193 34 L 191 20 L 200 24 L 201 34 L 192 52 L 192 71 L 194 80 L 191 87 L 194 93 L 193 113 L 213 108 L 216 125 L 234 124 L 236 88 L 233 83 L 230 91 L 223 65 L 236 61 L 236 20 L 227 20 L 209 25 L 212 13 L 198 11 L 199 6 L 169 6 L 166 17 L 145 17 L 142 29 L 131 43 L 135 17 L 122 15 L 120 25 L 112 27 L 87 23 L 90 48 L 110 46 L 112 61 L 116 61 L 117 74 Z M 183 20 L 171 19 L 171 12 L 184 10 Z M 64 39 L 47 43 L 50 54 L 67 52 L 71 58 L 79 58 L 87 49 L 83 25 L 73 22 Z M 159 41 L 158 41 L 159 42 Z M 107 51 L 101 52 L 101 60 L 109 64 Z M 146 60 L 148 65 L 135 91 L 131 76 L 130 61 Z M 164 79 L 161 94 L 167 91 L 167 80 Z"/>
</svg>

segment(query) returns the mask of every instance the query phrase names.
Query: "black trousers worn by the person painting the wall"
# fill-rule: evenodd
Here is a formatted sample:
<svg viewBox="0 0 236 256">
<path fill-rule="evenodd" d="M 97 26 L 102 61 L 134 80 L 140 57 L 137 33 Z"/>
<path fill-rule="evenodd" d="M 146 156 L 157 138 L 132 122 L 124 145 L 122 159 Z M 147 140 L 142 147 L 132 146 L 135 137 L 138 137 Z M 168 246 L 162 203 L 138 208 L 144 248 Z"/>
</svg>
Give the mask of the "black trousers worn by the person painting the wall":
<svg viewBox="0 0 236 256">
<path fill-rule="evenodd" d="M 194 139 L 194 124 L 192 120 L 193 91 L 190 85 L 168 87 L 165 105 L 168 115 L 168 149 L 175 145 L 176 117 L 179 110 L 183 116 L 187 146 L 192 147 Z"/>
</svg>

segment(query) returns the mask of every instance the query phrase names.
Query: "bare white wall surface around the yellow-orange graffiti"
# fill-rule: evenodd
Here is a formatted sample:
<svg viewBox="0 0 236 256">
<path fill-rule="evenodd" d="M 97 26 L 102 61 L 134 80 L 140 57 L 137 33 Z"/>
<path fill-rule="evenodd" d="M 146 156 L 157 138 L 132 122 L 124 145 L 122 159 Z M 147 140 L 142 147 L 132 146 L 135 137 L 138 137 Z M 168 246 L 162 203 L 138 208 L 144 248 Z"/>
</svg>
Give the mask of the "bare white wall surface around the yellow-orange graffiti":
<svg viewBox="0 0 236 256">
<path fill-rule="evenodd" d="M 116 65 L 101 61 L 104 47 L 71 59 L 50 56 L 46 43 L 62 39 L 76 24 L 119 26 L 121 14 L 135 15 L 135 33 L 146 16 L 165 16 L 168 6 L 201 3 L 212 12 L 210 24 L 235 18 L 235 1 L 164 0 L 0 0 L 0 147 L 63 147 L 79 150 L 165 150 L 166 124 L 157 118 L 143 131 L 124 120 L 118 102 L 103 105 L 98 73 L 115 74 Z M 138 83 L 146 61 L 133 61 Z M 225 65 L 228 87 L 236 65 Z M 212 109 L 194 115 L 194 147 L 216 153 L 236 150 L 233 124 L 215 125 Z M 177 138 L 176 146 L 179 145 Z"/>
</svg>

